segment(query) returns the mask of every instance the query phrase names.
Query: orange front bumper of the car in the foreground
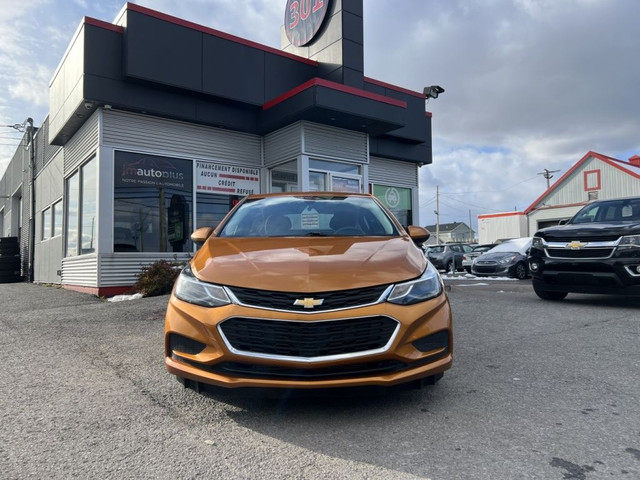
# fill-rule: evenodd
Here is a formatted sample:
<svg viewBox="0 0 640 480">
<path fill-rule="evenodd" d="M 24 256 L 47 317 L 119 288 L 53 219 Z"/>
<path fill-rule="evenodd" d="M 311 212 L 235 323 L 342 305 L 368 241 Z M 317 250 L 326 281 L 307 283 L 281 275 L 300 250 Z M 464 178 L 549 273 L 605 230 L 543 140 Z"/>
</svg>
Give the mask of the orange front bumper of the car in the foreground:
<svg viewBox="0 0 640 480">
<path fill-rule="evenodd" d="M 383 339 L 382 347 L 336 353 L 331 350 L 336 348 L 333 346 L 324 355 L 321 350 L 311 350 L 315 352 L 311 356 L 282 355 L 276 347 L 269 350 L 270 346 L 265 350 L 270 353 L 248 351 L 252 350 L 251 346 L 237 348 L 238 344 L 231 344 L 220 328 L 229 319 L 333 327 L 349 319 L 381 317 L 397 323 L 389 341 L 385 343 Z M 247 331 L 247 335 L 251 332 Z M 260 336 L 265 337 L 265 342 L 270 341 L 264 332 Z M 175 338 L 186 339 L 186 343 L 191 341 L 203 348 L 191 353 L 180 351 L 176 348 Z M 355 344 L 358 343 L 356 340 Z M 182 350 L 189 348 L 182 347 Z M 205 308 L 185 303 L 172 295 L 165 321 L 165 365 L 169 373 L 220 387 L 391 386 L 441 374 L 451 367 L 452 353 L 451 310 L 444 294 L 411 306 L 382 303 L 313 314 L 240 305 Z"/>
</svg>

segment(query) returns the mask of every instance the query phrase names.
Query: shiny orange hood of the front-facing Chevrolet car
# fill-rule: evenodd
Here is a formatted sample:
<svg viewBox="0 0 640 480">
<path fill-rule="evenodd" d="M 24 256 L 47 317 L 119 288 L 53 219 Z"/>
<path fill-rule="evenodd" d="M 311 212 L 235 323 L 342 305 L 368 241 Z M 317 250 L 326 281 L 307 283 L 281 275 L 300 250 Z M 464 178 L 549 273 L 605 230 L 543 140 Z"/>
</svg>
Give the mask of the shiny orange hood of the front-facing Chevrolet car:
<svg viewBox="0 0 640 480">
<path fill-rule="evenodd" d="M 191 262 L 199 279 L 282 292 L 322 292 L 414 279 L 427 260 L 408 237 L 210 237 Z"/>
</svg>

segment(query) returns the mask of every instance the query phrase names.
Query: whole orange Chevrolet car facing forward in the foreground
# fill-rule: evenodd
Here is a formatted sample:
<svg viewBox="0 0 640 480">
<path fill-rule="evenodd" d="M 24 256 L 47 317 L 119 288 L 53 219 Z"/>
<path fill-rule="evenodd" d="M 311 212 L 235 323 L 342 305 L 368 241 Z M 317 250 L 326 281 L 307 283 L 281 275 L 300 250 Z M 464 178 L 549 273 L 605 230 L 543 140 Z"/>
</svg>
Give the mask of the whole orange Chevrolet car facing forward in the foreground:
<svg viewBox="0 0 640 480">
<path fill-rule="evenodd" d="M 452 320 L 436 269 L 373 196 L 251 195 L 180 274 L 165 364 L 185 386 L 433 384 L 451 367 Z"/>
</svg>

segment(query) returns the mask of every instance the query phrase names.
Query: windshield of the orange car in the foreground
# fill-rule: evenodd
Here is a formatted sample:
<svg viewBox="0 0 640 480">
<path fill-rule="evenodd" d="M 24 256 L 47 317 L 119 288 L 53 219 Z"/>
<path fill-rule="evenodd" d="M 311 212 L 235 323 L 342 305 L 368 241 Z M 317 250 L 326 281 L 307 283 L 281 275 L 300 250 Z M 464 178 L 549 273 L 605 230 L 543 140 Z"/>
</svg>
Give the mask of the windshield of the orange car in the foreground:
<svg viewBox="0 0 640 480">
<path fill-rule="evenodd" d="M 344 195 L 247 199 L 220 232 L 221 237 L 397 235 L 373 198 Z"/>
</svg>

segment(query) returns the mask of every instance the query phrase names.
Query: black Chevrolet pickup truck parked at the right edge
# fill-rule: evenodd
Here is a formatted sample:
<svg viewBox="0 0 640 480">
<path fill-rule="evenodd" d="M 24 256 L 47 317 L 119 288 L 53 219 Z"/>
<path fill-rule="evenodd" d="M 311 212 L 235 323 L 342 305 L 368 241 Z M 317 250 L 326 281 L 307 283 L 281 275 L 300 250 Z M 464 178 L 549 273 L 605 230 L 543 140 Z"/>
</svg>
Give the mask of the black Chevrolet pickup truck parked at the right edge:
<svg viewBox="0 0 640 480">
<path fill-rule="evenodd" d="M 544 300 L 568 293 L 640 296 L 640 197 L 595 201 L 564 225 L 539 230 L 528 262 Z"/>
</svg>

